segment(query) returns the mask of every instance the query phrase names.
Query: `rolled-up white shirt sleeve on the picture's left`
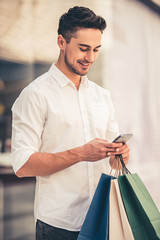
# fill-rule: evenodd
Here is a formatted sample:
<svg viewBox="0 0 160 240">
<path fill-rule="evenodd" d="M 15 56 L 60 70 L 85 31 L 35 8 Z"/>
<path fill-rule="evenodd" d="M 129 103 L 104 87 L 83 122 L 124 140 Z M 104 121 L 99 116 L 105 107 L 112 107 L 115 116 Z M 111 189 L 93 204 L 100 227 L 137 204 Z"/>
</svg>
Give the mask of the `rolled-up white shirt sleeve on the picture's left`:
<svg viewBox="0 0 160 240">
<path fill-rule="evenodd" d="M 44 96 L 26 88 L 12 107 L 11 163 L 15 173 L 41 147 L 41 135 L 46 116 Z"/>
</svg>

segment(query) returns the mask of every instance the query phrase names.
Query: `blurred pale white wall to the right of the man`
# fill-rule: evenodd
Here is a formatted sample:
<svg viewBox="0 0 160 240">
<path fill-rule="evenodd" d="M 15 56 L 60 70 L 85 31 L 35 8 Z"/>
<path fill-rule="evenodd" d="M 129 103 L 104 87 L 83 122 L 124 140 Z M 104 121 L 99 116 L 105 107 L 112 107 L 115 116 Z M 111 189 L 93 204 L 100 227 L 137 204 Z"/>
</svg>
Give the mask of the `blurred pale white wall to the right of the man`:
<svg viewBox="0 0 160 240">
<path fill-rule="evenodd" d="M 110 13 L 103 86 L 112 93 L 120 131 L 134 134 L 129 169 L 160 208 L 160 16 L 135 0 L 112 0 Z"/>
</svg>

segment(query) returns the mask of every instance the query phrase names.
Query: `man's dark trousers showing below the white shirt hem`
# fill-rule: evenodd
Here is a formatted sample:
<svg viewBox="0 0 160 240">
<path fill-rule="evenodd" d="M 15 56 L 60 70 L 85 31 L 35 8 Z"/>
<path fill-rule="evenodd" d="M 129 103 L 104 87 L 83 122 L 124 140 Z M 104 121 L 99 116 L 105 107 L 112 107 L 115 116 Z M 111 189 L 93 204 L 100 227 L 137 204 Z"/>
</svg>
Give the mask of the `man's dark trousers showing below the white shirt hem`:
<svg viewBox="0 0 160 240">
<path fill-rule="evenodd" d="M 52 227 L 40 220 L 36 223 L 36 240 L 77 240 L 79 232 Z"/>
</svg>

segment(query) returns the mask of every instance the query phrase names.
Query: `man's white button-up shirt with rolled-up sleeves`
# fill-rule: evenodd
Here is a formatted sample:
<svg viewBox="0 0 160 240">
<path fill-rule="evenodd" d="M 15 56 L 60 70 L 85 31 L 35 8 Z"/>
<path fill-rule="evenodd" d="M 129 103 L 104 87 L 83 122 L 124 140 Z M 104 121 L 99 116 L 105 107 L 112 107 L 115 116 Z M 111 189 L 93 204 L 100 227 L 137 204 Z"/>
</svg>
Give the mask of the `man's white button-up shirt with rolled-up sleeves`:
<svg viewBox="0 0 160 240">
<path fill-rule="evenodd" d="M 79 90 L 53 64 L 30 83 L 12 107 L 12 154 L 17 172 L 35 152 L 62 152 L 94 138 L 118 135 L 108 90 L 82 77 Z M 35 216 L 55 227 L 79 231 L 108 159 L 80 162 L 37 177 Z"/>
</svg>

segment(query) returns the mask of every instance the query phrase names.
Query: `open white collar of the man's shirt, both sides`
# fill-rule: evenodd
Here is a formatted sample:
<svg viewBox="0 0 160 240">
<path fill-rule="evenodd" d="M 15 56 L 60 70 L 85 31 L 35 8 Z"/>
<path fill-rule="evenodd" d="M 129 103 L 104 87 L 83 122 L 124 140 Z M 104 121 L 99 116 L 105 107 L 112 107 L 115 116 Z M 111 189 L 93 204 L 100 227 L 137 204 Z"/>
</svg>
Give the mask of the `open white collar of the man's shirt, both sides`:
<svg viewBox="0 0 160 240">
<path fill-rule="evenodd" d="M 54 79 L 59 83 L 59 85 L 63 88 L 68 84 L 73 84 L 73 82 L 64 74 L 62 73 L 55 64 L 52 64 L 51 68 L 49 69 Z M 82 76 L 81 85 L 88 87 L 88 77 Z"/>
</svg>

